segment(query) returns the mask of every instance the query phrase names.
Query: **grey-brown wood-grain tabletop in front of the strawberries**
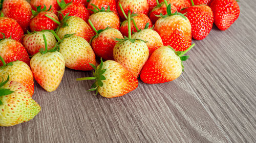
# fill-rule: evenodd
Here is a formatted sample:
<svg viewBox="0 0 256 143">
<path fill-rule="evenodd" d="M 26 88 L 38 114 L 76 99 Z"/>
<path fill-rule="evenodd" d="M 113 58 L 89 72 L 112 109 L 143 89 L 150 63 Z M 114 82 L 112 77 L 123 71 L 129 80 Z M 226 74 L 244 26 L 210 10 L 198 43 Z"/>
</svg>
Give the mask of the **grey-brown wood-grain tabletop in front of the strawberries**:
<svg viewBox="0 0 256 143">
<path fill-rule="evenodd" d="M 173 82 L 145 84 L 119 98 L 87 92 L 92 72 L 66 69 L 59 88 L 35 83 L 31 121 L 0 127 L 0 142 L 256 142 L 256 11 L 240 1 L 226 31 L 214 25 Z"/>
</svg>

